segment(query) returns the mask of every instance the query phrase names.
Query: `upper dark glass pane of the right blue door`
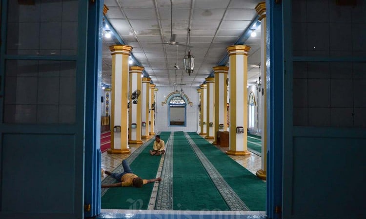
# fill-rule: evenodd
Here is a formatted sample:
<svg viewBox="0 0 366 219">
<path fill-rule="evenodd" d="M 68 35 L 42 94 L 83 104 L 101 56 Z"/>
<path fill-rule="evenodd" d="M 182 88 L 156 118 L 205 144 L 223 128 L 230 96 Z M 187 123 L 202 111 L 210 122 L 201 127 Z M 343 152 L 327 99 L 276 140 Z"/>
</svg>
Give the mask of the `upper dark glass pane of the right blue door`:
<svg viewBox="0 0 366 219">
<path fill-rule="evenodd" d="M 365 0 L 293 0 L 294 56 L 365 56 Z"/>
</svg>

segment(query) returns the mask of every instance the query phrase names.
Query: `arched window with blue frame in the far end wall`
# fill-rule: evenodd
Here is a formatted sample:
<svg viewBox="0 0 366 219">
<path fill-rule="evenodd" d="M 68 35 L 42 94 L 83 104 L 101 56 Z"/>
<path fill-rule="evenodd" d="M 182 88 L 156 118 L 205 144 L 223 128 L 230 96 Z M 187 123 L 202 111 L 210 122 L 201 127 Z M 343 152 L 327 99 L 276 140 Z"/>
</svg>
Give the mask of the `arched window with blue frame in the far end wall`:
<svg viewBox="0 0 366 219">
<path fill-rule="evenodd" d="M 173 96 L 169 101 L 169 126 L 185 126 L 185 100 Z"/>
</svg>

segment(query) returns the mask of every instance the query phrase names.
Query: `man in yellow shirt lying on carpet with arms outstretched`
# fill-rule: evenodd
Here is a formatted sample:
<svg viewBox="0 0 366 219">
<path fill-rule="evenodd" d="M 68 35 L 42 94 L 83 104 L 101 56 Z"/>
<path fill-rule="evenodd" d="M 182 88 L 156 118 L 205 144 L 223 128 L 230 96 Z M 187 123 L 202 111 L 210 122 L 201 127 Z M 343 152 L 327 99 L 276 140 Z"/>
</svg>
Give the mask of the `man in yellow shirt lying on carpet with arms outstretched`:
<svg viewBox="0 0 366 219">
<path fill-rule="evenodd" d="M 120 183 L 113 183 L 113 184 L 103 184 L 102 188 L 107 188 L 107 187 L 127 187 L 127 186 L 135 186 L 135 187 L 142 187 L 143 184 L 146 183 L 152 183 L 155 181 L 161 181 L 162 178 L 156 178 L 156 179 L 152 179 L 152 180 L 142 180 L 140 177 L 136 176 L 135 174 L 132 173 L 132 170 L 130 168 L 130 166 L 128 165 L 128 162 L 123 160 L 122 161 L 122 165 L 123 165 L 123 173 L 111 173 L 107 170 L 104 171 L 105 174 L 107 175 L 111 175 L 114 179 L 118 180 L 118 182 Z"/>
</svg>

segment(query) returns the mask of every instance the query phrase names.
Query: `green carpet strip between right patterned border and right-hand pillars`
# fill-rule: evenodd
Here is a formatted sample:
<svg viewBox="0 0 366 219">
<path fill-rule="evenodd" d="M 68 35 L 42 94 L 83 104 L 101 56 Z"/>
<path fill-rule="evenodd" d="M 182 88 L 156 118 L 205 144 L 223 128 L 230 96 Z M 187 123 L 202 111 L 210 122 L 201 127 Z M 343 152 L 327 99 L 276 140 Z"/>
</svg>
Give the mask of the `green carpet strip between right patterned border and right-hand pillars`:
<svg viewBox="0 0 366 219">
<path fill-rule="evenodd" d="M 265 211 L 266 183 L 195 132 L 189 136 L 251 211 Z"/>
</svg>

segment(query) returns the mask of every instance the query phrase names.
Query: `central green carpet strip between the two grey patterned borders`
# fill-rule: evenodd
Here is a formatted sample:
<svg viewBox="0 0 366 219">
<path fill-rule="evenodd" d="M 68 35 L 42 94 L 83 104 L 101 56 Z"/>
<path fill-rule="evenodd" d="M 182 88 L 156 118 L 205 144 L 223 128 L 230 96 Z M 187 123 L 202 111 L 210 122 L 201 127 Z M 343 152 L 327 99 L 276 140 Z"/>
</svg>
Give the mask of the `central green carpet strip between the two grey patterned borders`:
<svg viewBox="0 0 366 219">
<path fill-rule="evenodd" d="M 183 132 L 174 133 L 173 209 L 229 210 Z"/>
</svg>

